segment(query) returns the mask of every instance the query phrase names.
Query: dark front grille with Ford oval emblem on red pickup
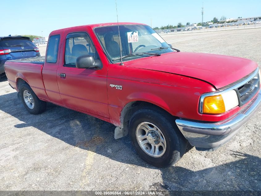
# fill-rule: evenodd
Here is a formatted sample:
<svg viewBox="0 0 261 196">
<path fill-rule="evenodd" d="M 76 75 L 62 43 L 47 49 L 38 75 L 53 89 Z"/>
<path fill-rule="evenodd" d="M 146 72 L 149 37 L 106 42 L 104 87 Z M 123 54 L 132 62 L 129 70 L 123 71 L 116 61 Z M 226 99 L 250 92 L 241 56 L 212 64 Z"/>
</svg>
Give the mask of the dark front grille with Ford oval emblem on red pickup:
<svg viewBox="0 0 261 196">
<path fill-rule="evenodd" d="M 246 84 L 240 86 L 238 89 L 235 89 L 238 94 L 238 102 L 239 106 L 244 105 L 246 102 L 248 102 L 251 98 L 254 97 L 254 95 L 259 90 L 260 85 L 260 78 L 259 74 L 255 75 L 249 82 Z"/>
</svg>

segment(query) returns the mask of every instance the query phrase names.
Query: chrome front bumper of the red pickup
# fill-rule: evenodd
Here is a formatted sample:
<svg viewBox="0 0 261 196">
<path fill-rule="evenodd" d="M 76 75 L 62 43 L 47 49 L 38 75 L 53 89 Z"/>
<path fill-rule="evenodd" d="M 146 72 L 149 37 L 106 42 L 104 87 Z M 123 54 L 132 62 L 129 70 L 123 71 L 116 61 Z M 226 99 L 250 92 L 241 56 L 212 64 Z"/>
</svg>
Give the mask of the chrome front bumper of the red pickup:
<svg viewBox="0 0 261 196">
<path fill-rule="evenodd" d="M 241 111 L 230 118 L 217 123 L 203 123 L 177 119 L 176 124 L 192 146 L 197 150 L 216 150 L 228 142 L 258 111 L 261 105 L 261 90 L 256 97 Z"/>
</svg>

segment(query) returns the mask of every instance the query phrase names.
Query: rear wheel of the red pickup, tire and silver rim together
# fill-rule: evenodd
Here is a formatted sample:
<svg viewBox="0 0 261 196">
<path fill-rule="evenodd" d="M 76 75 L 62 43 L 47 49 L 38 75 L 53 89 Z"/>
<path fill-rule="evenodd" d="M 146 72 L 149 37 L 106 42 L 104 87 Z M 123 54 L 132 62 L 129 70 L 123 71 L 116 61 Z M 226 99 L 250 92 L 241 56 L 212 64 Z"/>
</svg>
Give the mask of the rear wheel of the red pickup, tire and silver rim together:
<svg viewBox="0 0 261 196">
<path fill-rule="evenodd" d="M 40 114 L 46 109 L 46 102 L 41 101 L 28 84 L 23 84 L 20 88 L 20 97 L 24 107 L 31 114 Z"/>
</svg>

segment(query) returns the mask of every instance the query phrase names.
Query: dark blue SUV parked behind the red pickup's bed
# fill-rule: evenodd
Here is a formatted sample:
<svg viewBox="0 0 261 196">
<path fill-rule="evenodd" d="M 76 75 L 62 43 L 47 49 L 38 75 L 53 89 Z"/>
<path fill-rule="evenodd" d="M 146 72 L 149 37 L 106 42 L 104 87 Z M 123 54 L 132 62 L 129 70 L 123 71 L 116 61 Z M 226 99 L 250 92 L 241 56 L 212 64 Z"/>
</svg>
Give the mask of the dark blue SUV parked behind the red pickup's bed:
<svg viewBox="0 0 261 196">
<path fill-rule="evenodd" d="M 24 59 L 40 56 L 39 48 L 29 37 L 0 37 L 0 78 L 5 73 L 4 64 L 7 60 Z"/>
</svg>

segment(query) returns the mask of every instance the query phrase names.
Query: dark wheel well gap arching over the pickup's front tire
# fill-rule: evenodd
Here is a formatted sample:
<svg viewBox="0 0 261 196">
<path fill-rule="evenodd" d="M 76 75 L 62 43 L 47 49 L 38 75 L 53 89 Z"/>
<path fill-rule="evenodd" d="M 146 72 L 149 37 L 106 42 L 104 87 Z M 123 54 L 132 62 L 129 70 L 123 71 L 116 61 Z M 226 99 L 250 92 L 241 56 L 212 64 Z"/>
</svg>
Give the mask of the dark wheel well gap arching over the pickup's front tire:
<svg viewBox="0 0 261 196">
<path fill-rule="evenodd" d="M 163 108 L 150 103 L 150 102 L 145 102 L 145 101 L 134 101 L 134 102 L 129 102 L 128 104 L 126 104 L 126 106 L 122 109 L 121 111 L 121 115 L 120 115 L 120 124 L 121 124 L 121 128 L 127 128 L 128 129 L 128 123 L 129 120 L 131 118 L 131 116 L 138 111 L 141 108 L 144 107 L 151 107 L 152 109 L 156 109 L 162 113 L 165 113 L 166 115 L 170 115 L 171 117 L 175 118 L 174 116 L 172 116 L 169 112 L 167 112 L 166 110 L 164 110 Z"/>
</svg>

